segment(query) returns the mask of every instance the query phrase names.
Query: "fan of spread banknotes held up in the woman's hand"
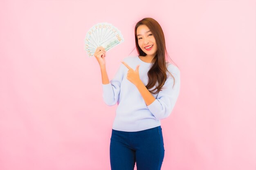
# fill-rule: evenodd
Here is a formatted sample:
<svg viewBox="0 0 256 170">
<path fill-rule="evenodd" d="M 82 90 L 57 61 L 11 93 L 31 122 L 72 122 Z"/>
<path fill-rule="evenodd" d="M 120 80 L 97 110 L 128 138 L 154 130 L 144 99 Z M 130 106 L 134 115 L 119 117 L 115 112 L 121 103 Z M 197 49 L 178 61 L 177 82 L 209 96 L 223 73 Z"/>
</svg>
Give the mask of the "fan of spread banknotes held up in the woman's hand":
<svg viewBox="0 0 256 170">
<path fill-rule="evenodd" d="M 98 46 L 106 51 L 124 42 L 121 32 L 112 24 L 102 22 L 90 28 L 85 37 L 85 50 L 92 57 Z"/>
</svg>

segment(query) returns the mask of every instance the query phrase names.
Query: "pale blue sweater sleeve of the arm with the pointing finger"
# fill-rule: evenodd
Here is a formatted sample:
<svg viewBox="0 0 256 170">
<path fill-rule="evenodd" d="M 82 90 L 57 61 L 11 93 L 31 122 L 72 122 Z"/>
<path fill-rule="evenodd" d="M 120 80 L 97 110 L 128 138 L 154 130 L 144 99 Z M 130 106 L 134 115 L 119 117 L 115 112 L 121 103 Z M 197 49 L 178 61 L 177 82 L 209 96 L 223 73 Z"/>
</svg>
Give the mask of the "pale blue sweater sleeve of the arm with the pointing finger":
<svg viewBox="0 0 256 170">
<path fill-rule="evenodd" d="M 164 88 L 159 91 L 154 102 L 148 105 L 148 109 L 157 120 L 165 119 L 171 114 L 180 93 L 180 70 L 173 66 L 168 66 L 168 68 L 175 78 L 174 86 L 173 77 L 167 72 L 169 75 L 164 83 Z"/>
</svg>

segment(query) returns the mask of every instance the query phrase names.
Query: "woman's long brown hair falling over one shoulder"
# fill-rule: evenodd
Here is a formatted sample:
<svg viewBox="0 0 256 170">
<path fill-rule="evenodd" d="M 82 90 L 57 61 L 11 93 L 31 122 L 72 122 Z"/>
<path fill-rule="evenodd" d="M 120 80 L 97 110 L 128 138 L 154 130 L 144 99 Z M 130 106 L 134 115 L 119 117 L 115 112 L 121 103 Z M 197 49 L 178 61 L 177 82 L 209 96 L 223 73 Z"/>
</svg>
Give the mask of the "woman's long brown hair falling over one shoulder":
<svg viewBox="0 0 256 170">
<path fill-rule="evenodd" d="M 152 32 L 152 34 L 155 38 L 156 44 L 157 44 L 157 53 L 152 60 L 152 62 L 154 62 L 154 64 L 151 66 L 151 68 L 148 71 L 148 84 L 146 85 L 146 88 L 150 89 L 150 88 L 153 88 L 156 85 L 156 83 L 158 82 L 158 85 L 153 90 L 148 90 L 148 91 L 150 91 L 150 93 L 157 94 L 157 93 L 159 93 L 159 91 L 162 91 L 161 90 L 162 86 L 164 86 L 164 83 L 167 79 L 166 71 L 168 71 L 166 68 L 166 60 L 165 60 L 165 56 L 166 56 L 165 54 L 167 54 L 167 51 L 166 51 L 166 46 L 165 46 L 164 32 L 163 32 L 161 26 L 159 25 L 159 23 L 156 20 L 154 20 L 153 18 L 143 18 L 142 20 L 137 22 L 135 29 L 134 29 L 135 44 L 136 44 L 137 52 L 141 56 L 146 56 L 147 54 L 141 50 L 141 48 L 139 47 L 139 44 L 138 44 L 137 28 L 140 25 L 146 25 L 149 28 L 149 30 Z M 171 76 L 173 77 L 172 74 L 171 74 Z M 173 79 L 174 79 L 174 77 L 173 77 Z M 175 84 L 175 79 L 174 79 L 173 86 L 174 86 L 174 84 Z M 155 91 L 155 92 L 153 92 L 153 91 Z"/>
</svg>

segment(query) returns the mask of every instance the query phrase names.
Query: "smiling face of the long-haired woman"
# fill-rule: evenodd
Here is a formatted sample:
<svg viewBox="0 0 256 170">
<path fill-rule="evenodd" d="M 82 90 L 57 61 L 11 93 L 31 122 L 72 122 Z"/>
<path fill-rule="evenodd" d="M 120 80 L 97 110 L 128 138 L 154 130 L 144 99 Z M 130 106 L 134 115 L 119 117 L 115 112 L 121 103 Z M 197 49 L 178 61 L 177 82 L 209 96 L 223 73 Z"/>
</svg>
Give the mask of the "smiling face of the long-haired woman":
<svg viewBox="0 0 256 170">
<path fill-rule="evenodd" d="M 137 28 L 137 39 L 139 47 L 144 53 L 155 56 L 157 52 L 157 44 L 155 37 L 146 25 L 140 25 Z"/>
</svg>

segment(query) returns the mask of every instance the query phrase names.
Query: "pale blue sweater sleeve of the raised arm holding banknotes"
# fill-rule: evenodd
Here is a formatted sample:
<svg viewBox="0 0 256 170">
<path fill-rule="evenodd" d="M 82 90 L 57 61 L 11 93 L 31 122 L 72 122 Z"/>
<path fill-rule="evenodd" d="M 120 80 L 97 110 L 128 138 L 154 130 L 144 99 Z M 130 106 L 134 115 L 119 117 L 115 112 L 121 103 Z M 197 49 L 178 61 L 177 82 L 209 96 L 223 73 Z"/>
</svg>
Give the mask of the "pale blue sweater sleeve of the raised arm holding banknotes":
<svg viewBox="0 0 256 170">
<path fill-rule="evenodd" d="M 108 106 L 115 105 L 119 99 L 120 86 L 121 86 L 122 79 L 124 77 L 122 65 L 123 64 L 120 64 L 117 70 L 117 73 L 115 74 L 114 78 L 110 80 L 109 84 L 102 84 L 103 101 Z"/>
</svg>

